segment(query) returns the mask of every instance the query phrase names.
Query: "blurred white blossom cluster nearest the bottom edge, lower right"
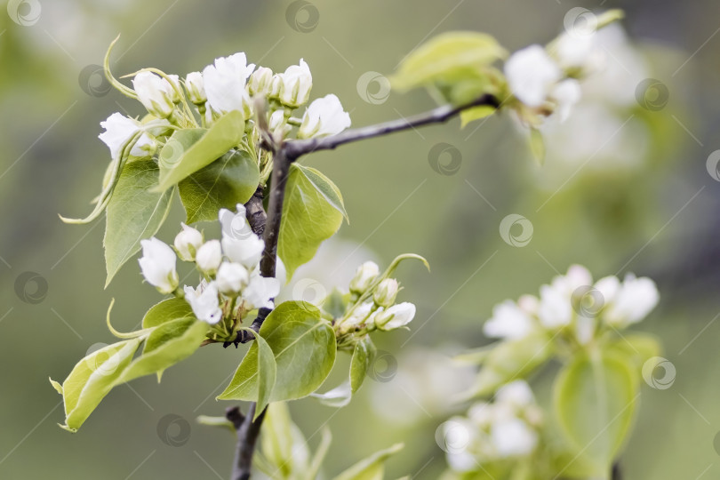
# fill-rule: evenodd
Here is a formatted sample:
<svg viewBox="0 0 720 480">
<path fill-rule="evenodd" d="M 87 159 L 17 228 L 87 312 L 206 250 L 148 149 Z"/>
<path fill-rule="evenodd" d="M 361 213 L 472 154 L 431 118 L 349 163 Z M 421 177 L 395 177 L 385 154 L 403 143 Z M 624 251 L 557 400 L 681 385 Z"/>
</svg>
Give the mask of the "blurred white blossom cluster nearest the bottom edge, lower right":
<svg viewBox="0 0 720 480">
<path fill-rule="evenodd" d="M 467 417 L 454 417 L 438 430 L 438 442 L 457 472 L 486 463 L 531 455 L 537 448 L 542 412 L 530 386 L 516 380 L 500 388 L 494 402 L 470 407 Z"/>
</svg>

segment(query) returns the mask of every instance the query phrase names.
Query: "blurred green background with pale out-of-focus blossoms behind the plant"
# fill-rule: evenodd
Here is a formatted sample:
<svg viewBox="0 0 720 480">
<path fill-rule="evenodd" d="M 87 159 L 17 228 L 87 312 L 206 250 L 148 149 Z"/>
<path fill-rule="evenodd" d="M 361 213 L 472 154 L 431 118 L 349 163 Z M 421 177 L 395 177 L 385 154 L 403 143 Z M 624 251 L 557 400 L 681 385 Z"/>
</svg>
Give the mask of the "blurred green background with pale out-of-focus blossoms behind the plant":
<svg viewBox="0 0 720 480">
<path fill-rule="evenodd" d="M 134 261 L 103 290 L 103 220 L 68 226 L 100 190 L 109 160 L 100 121 L 143 113 L 110 90 L 99 65 L 122 34 L 118 75 L 154 66 L 200 70 L 244 51 L 284 70 L 300 58 L 313 95 L 336 93 L 356 126 L 432 108 L 424 92 L 388 92 L 386 75 L 429 36 L 468 29 L 508 50 L 545 44 L 572 7 L 626 9 L 604 45 L 608 70 L 584 87 L 568 121 L 547 132 L 544 166 L 508 115 L 460 129 L 457 119 L 356 143 L 305 160 L 340 187 L 350 224 L 298 272 L 325 285 L 348 281 L 368 258 L 404 264 L 401 300 L 418 306 L 412 332 L 380 336 L 380 356 L 350 406 L 291 405 L 314 448 L 335 438 L 326 474 L 404 441 L 388 477 L 436 478 L 444 452 L 435 431 L 448 397 L 468 384 L 452 354 L 488 340 L 482 324 L 501 300 L 537 292 L 572 263 L 597 278 L 627 272 L 659 284 L 657 308 L 636 329 L 664 343 L 670 388 L 645 387 L 622 457 L 629 479 L 720 477 L 720 22 L 713 0 L 575 3 L 452 0 L 364 2 L 213 0 L 13 0 L 0 12 L 0 478 L 224 478 L 234 438 L 201 427 L 244 351 L 202 348 L 154 378 L 116 388 L 82 430 L 63 413 L 48 376 L 62 380 L 93 345 L 130 329 L 159 300 Z M 715 152 L 715 153 L 714 153 Z M 508 215 L 516 215 L 500 228 Z M 159 237 L 172 241 L 173 209 Z M 330 273 L 328 273 L 330 272 Z M 292 289 L 292 286 L 289 287 Z M 292 295 L 292 292 L 285 292 Z M 339 366 L 344 368 L 347 359 Z M 532 381 L 547 398 L 551 367 Z M 341 373 L 328 380 L 330 387 Z"/>
</svg>

